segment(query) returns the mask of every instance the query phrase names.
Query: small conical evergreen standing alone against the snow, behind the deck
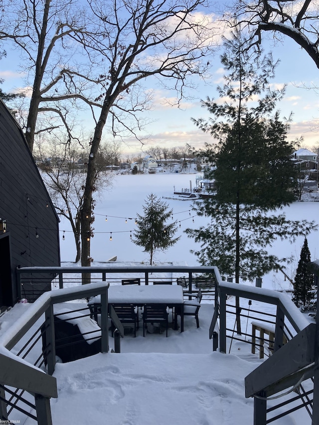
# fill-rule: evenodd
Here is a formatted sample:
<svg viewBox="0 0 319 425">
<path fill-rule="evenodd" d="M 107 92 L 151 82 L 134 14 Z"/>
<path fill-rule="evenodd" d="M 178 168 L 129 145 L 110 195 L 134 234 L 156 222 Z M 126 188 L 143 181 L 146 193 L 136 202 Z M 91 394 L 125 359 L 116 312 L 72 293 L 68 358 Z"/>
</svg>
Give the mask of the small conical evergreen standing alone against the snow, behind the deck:
<svg viewBox="0 0 319 425">
<path fill-rule="evenodd" d="M 177 231 L 176 222 L 165 224 L 172 215 L 172 210 L 168 210 L 168 205 L 151 193 L 145 200 L 143 206 L 144 216 L 137 215 L 138 230 L 134 232 L 133 242 L 144 247 L 144 252 L 150 253 L 150 265 L 153 264 L 153 257 L 156 250 L 165 251 L 173 246 L 179 239 L 173 239 Z"/>
</svg>

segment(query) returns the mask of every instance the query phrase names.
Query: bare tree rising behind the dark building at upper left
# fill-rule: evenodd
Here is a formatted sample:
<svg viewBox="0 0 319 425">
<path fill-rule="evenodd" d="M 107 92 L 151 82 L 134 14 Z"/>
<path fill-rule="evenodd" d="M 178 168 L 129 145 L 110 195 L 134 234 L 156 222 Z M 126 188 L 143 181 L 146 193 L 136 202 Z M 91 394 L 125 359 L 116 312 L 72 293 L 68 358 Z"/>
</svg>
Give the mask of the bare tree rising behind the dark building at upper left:
<svg viewBox="0 0 319 425">
<path fill-rule="evenodd" d="M 20 66 L 26 75 L 26 91 L 31 88 L 27 116 L 20 121 L 30 151 L 34 136 L 41 132 L 64 127 L 69 141 L 77 139 L 69 119 L 72 102 L 73 108 L 76 99 L 90 107 L 100 106 L 88 100 L 96 80 L 89 77 L 92 54 L 85 56 L 83 47 L 83 37 L 89 31 L 83 7 L 73 0 L 1 3 L 6 13 L 0 21 L 0 39 L 13 43 L 10 46 L 21 57 Z M 76 54 L 79 49 L 81 55 Z M 80 62 L 82 58 L 84 63 Z M 38 120 L 39 114 L 45 118 Z"/>
</svg>

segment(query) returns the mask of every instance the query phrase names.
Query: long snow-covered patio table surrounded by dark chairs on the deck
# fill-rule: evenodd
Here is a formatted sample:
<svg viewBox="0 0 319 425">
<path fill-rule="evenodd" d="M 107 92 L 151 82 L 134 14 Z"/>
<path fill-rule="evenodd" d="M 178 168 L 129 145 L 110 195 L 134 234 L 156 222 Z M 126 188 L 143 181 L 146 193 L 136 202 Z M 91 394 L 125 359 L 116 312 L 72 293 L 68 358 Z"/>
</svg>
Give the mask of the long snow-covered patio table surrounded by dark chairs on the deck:
<svg viewBox="0 0 319 425">
<path fill-rule="evenodd" d="M 180 285 L 115 285 L 108 289 L 109 304 L 165 304 L 174 308 L 174 322 L 177 327 L 177 312 L 180 314 L 180 331 L 184 330 L 183 288 Z M 88 303 L 98 307 L 101 296 L 97 295 Z"/>
</svg>

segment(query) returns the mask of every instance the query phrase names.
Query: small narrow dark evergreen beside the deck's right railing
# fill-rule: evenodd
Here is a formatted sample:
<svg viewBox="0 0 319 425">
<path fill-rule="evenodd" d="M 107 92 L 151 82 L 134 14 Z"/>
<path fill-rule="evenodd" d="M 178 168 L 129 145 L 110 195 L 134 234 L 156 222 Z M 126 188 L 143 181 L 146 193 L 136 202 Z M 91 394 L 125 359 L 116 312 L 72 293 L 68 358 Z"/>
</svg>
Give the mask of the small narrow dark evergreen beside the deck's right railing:
<svg viewBox="0 0 319 425">
<path fill-rule="evenodd" d="M 314 298 L 312 293 L 314 284 L 314 275 L 307 270 L 307 264 L 311 261 L 307 238 L 301 249 L 300 260 L 295 276 L 293 301 L 297 307 L 310 309 L 311 300 Z"/>
</svg>

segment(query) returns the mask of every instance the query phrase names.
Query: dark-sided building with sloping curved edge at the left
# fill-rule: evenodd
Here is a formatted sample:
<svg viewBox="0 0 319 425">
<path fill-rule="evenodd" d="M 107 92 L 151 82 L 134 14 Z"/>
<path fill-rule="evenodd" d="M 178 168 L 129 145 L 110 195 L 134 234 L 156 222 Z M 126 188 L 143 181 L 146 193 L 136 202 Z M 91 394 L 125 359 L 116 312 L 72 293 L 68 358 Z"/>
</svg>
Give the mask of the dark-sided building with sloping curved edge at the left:
<svg viewBox="0 0 319 425">
<path fill-rule="evenodd" d="M 0 100 L 0 308 L 35 300 L 53 276 L 28 276 L 17 267 L 60 266 L 58 216 L 24 135 Z"/>
</svg>

